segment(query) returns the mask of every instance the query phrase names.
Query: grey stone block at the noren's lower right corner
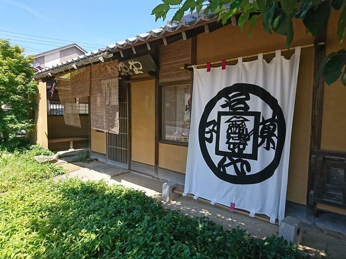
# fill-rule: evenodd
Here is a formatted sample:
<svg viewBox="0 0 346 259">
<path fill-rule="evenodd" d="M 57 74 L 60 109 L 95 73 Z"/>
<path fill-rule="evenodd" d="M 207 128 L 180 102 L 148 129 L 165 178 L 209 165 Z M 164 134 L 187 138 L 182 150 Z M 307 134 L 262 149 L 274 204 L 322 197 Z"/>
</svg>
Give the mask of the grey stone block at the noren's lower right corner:
<svg viewBox="0 0 346 259">
<path fill-rule="evenodd" d="M 287 216 L 279 224 L 279 237 L 281 236 L 287 242 L 299 245 L 303 237 L 302 221 Z"/>
</svg>

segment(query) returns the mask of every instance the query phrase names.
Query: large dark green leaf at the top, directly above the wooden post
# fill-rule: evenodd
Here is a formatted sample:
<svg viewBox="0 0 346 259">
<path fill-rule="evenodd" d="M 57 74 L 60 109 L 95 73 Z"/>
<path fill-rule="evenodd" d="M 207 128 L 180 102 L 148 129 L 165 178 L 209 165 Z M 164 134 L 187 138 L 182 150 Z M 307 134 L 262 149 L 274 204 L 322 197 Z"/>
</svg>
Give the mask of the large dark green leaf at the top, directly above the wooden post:
<svg viewBox="0 0 346 259">
<path fill-rule="evenodd" d="M 329 15 L 329 1 L 323 1 L 321 4 L 307 11 L 303 23 L 312 36 L 316 37 L 327 26 Z"/>
</svg>

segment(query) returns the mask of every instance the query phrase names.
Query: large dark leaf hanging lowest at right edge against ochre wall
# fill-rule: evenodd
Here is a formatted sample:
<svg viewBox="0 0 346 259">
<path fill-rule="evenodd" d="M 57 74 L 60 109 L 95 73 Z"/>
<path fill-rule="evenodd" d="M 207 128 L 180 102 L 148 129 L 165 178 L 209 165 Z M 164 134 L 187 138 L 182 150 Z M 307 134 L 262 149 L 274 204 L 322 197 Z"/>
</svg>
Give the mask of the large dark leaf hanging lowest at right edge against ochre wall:
<svg viewBox="0 0 346 259">
<path fill-rule="evenodd" d="M 328 60 L 323 70 L 323 80 L 331 85 L 342 75 L 342 70 L 346 64 L 346 50 L 338 51 Z"/>
</svg>

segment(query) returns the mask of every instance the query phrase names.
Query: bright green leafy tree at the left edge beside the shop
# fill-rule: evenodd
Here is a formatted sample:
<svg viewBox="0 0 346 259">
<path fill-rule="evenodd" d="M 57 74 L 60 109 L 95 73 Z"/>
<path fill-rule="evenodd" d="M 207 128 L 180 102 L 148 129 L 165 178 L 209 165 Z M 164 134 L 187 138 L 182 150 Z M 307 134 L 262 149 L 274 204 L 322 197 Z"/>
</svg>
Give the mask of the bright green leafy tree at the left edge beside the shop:
<svg viewBox="0 0 346 259">
<path fill-rule="evenodd" d="M 0 40 L 0 143 L 15 138 L 33 126 L 30 111 L 36 107 L 37 83 L 23 49 Z"/>
</svg>

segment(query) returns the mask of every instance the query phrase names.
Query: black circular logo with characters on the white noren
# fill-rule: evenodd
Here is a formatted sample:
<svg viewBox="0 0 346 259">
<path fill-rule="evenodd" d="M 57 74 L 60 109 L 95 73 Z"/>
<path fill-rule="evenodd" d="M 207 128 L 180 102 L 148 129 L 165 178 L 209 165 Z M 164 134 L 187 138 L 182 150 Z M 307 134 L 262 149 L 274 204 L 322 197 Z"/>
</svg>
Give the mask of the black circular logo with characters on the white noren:
<svg viewBox="0 0 346 259">
<path fill-rule="evenodd" d="M 278 101 L 254 84 L 236 83 L 206 105 L 198 128 L 204 160 L 221 180 L 258 184 L 278 167 L 286 123 Z"/>
</svg>

